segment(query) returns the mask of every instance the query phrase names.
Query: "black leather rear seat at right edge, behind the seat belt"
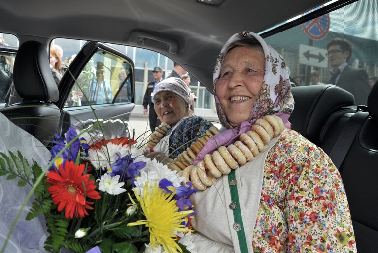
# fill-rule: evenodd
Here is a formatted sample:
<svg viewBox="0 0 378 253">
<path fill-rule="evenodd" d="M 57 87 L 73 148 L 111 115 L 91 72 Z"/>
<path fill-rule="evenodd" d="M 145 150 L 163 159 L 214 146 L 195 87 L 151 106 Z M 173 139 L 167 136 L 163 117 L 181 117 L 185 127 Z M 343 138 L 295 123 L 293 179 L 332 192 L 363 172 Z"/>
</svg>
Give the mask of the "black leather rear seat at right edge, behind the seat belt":
<svg viewBox="0 0 378 253">
<path fill-rule="evenodd" d="M 365 108 L 366 109 L 366 108 Z M 368 97 L 365 117 L 359 118 L 360 127 L 339 167 L 356 238 L 357 251 L 378 252 L 378 81 Z M 321 147 L 331 154 L 353 113 L 346 113 L 328 124 Z M 331 157 L 332 158 L 332 157 Z"/>
</svg>

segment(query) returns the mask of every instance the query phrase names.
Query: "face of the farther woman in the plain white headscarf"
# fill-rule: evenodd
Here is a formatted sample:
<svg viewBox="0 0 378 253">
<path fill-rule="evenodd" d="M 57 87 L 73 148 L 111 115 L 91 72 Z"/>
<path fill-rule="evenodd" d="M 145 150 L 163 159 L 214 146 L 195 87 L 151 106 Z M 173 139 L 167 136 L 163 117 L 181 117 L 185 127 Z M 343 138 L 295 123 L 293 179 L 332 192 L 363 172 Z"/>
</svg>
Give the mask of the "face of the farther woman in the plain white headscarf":
<svg viewBox="0 0 378 253">
<path fill-rule="evenodd" d="M 170 91 L 155 94 L 154 104 L 159 120 L 167 124 L 176 123 L 189 113 L 184 99 Z"/>
</svg>

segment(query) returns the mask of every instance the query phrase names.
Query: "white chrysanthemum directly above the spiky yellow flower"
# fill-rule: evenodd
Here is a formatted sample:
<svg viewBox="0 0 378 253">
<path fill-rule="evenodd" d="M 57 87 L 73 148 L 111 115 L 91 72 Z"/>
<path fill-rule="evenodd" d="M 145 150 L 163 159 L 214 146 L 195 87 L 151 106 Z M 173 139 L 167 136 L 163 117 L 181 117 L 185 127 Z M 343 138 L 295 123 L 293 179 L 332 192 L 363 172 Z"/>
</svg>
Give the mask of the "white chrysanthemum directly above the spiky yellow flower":
<svg viewBox="0 0 378 253">
<path fill-rule="evenodd" d="M 184 180 L 183 177 L 177 175 L 177 171 L 172 171 L 167 165 L 157 162 L 155 159 L 150 160 L 140 171 L 140 176 L 136 178 L 134 189 L 137 190 L 140 196 L 143 196 L 143 189 L 146 182 L 148 182 L 148 185 L 151 186 L 152 189 L 152 186 L 155 183 L 159 184 L 159 181 L 163 178 L 171 181 L 174 187 L 179 187 Z"/>
</svg>

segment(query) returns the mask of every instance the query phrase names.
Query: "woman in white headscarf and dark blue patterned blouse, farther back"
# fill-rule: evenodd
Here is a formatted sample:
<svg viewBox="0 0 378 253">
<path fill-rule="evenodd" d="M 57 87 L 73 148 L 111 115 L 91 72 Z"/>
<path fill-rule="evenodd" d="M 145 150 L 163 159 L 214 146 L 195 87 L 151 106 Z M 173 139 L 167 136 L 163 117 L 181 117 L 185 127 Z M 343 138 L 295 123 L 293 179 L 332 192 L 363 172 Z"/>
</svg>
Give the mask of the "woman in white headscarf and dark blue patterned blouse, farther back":
<svg viewBox="0 0 378 253">
<path fill-rule="evenodd" d="M 154 88 L 154 104 L 159 120 L 170 126 L 164 136 L 159 135 L 161 139 L 156 146 L 149 150 L 155 154 L 164 153 L 176 158 L 213 126 L 189 109 L 190 90 L 180 78 L 170 77 L 158 83 Z"/>
</svg>

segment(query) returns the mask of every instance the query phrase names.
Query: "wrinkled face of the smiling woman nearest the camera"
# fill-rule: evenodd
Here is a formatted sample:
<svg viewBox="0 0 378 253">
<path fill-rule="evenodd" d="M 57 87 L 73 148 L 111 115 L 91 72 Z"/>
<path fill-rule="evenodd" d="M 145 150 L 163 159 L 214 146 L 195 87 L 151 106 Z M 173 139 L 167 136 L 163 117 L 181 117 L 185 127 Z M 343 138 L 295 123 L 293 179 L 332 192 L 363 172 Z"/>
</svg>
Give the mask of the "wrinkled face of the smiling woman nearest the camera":
<svg viewBox="0 0 378 253">
<path fill-rule="evenodd" d="M 265 58 L 254 49 L 238 46 L 226 55 L 215 92 L 231 126 L 248 120 L 264 72 Z"/>
</svg>

